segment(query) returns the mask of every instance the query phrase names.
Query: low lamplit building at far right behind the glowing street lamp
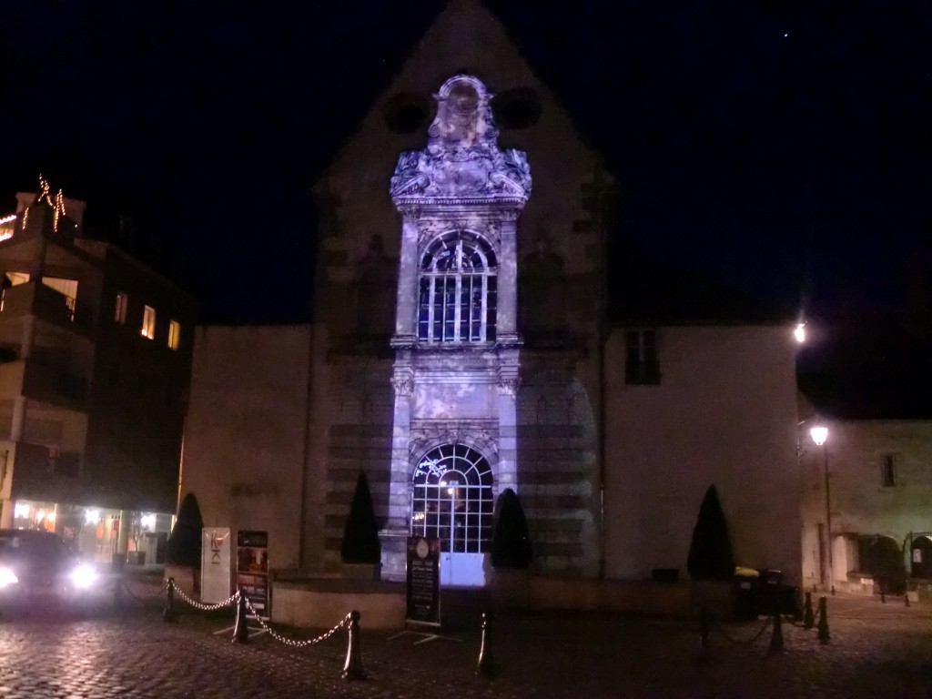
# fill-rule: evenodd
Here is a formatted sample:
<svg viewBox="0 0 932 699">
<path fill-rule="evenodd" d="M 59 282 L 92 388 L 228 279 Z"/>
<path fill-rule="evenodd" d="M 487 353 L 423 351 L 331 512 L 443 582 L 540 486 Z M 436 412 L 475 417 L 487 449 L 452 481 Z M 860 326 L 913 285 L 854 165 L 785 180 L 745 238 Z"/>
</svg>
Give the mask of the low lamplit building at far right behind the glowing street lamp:
<svg viewBox="0 0 932 699">
<path fill-rule="evenodd" d="M 803 583 L 879 592 L 889 578 L 901 592 L 906 577 L 932 579 L 932 420 L 814 414 L 800 442 Z"/>
</svg>

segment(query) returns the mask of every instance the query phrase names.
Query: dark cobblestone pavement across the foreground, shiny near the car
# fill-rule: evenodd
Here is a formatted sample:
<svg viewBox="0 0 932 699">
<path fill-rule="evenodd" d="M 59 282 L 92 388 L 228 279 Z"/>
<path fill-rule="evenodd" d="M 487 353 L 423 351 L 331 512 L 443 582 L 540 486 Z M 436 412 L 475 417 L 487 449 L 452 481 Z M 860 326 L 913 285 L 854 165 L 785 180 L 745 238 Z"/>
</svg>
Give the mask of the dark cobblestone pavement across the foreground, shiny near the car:
<svg viewBox="0 0 932 699">
<path fill-rule="evenodd" d="M 830 643 L 784 624 L 785 650 L 773 655 L 770 629 L 743 642 L 762 620 L 714 627 L 704 664 L 694 623 L 503 614 L 489 635 L 500 666 L 491 681 L 474 673 L 476 631 L 418 643 L 424 637 L 366 631 L 363 619 L 368 678 L 348 682 L 344 631 L 304 649 L 268 635 L 234 644 L 226 616 L 178 603 L 178 620 L 163 623 L 153 590 L 134 589 L 139 599 L 128 597 L 121 615 L 103 600 L 87 618 L 4 617 L 0 697 L 932 697 L 932 607 L 901 599 L 829 597 Z M 335 610 L 335 623 L 343 614 Z"/>
</svg>

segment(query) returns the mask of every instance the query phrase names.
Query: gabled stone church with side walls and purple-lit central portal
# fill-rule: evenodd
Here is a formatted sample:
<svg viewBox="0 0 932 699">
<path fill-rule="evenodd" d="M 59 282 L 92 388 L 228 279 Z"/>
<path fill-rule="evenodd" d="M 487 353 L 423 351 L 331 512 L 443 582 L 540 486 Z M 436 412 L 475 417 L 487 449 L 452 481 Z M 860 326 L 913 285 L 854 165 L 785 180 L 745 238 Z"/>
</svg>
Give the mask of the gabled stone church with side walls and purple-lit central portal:
<svg viewBox="0 0 932 699">
<path fill-rule="evenodd" d="M 424 533 L 442 583 L 483 585 L 513 488 L 533 574 L 685 580 L 714 484 L 736 563 L 799 583 L 789 319 L 685 285 L 660 308 L 677 282 L 632 281 L 599 161 L 500 21 L 445 7 L 316 185 L 314 322 L 198 330 L 182 489 L 205 524 L 335 570 L 362 471 L 383 578 Z"/>
</svg>

